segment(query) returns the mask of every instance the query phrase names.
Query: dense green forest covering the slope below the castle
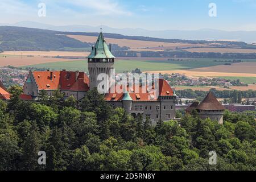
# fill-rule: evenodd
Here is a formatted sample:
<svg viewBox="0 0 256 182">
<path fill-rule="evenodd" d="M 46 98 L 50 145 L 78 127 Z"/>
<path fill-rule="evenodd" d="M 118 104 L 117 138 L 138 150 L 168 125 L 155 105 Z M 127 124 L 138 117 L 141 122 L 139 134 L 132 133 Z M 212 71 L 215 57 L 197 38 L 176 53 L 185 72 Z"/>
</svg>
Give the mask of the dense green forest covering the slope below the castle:
<svg viewBox="0 0 256 182">
<path fill-rule="evenodd" d="M 256 169 L 255 113 L 225 111 L 219 125 L 178 112 L 181 121 L 151 126 L 113 110 L 96 89 L 79 103 L 59 90 L 50 98 L 40 92 L 36 102 L 21 101 L 18 86 L 10 91 L 9 102 L 0 100 L 0 170 Z M 38 164 L 38 151 L 46 152 L 46 165 Z"/>
</svg>

